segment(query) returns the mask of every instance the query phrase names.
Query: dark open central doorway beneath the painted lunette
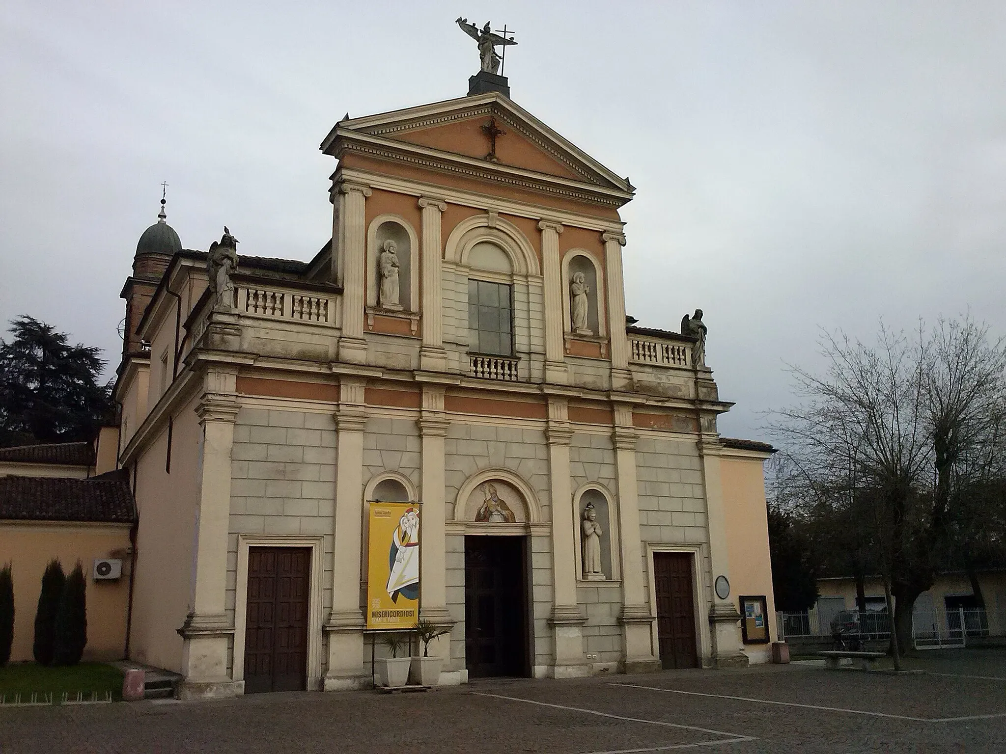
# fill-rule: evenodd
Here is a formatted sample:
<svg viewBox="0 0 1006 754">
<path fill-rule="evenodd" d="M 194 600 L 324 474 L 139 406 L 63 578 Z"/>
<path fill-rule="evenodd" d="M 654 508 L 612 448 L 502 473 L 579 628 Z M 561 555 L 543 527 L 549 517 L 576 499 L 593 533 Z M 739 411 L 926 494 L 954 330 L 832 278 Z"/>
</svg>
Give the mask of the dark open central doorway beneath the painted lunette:
<svg viewBox="0 0 1006 754">
<path fill-rule="evenodd" d="M 465 667 L 472 678 L 528 675 L 524 537 L 465 537 Z"/>
</svg>

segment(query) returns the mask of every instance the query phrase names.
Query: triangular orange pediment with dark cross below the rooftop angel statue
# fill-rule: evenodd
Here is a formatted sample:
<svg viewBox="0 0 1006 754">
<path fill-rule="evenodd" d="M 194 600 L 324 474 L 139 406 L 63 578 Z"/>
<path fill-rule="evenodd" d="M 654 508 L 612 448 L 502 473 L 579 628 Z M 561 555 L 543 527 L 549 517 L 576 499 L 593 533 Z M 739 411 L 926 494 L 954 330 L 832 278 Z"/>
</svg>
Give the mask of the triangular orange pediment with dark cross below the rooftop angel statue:
<svg viewBox="0 0 1006 754">
<path fill-rule="evenodd" d="M 486 133 L 491 125 L 504 132 L 496 137 L 495 155 Z M 326 138 L 322 150 L 336 154 L 333 149 L 339 137 L 354 136 L 443 155 L 445 159 L 477 161 L 486 168 L 512 169 L 595 186 L 625 194 L 625 201 L 632 194 L 626 179 L 495 91 L 343 119 Z"/>
</svg>

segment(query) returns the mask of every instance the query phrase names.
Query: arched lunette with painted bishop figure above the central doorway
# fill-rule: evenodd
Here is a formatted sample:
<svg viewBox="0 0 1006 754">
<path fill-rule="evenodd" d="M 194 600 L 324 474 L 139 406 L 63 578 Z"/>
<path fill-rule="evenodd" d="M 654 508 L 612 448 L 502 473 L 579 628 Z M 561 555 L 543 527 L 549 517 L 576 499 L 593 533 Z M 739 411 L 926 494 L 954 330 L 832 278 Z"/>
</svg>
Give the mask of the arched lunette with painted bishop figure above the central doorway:
<svg viewBox="0 0 1006 754">
<path fill-rule="evenodd" d="M 500 503 L 503 506 L 500 506 Z M 502 515 L 497 511 L 502 509 Z M 512 519 L 506 513 L 512 514 Z M 537 524 L 541 508 L 534 490 L 507 468 L 486 468 L 458 491 L 454 519 L 475 524 Z"/>
</svg>

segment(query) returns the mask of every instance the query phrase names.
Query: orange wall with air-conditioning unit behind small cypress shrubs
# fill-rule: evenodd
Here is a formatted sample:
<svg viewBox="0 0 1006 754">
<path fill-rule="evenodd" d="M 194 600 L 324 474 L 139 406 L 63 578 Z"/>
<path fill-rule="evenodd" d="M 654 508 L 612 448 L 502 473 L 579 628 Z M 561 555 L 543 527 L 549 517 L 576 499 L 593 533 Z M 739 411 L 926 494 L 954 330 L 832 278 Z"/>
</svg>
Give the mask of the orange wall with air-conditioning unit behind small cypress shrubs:
<svg viewBox="0 0 1006 754">
<path fill-rule="evenodd" d="M 58 558 L 69 573 L 79 560 L 88 579 L 88 645 L 86 661 L 121 659 L 126 648 L 129 600 L 128 524 L 0 522 L 0 564 L 11 563 L 14 579 L 14 644 L 11 662 L 32 659 L 35 609 L 42 573 Z M 115 581 L 92 578 L 95 558 L 123 560 L 123 576 Z"/>
</svg>

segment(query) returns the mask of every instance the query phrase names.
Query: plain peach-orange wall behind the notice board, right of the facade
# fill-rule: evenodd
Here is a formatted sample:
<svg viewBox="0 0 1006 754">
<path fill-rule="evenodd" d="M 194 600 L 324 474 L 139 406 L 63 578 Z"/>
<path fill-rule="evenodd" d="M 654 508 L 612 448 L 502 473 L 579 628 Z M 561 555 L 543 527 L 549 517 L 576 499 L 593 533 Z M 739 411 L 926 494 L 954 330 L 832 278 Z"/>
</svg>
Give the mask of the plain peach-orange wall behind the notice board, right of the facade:
<svg viewBox="0 0 1006 754">
<path fill-rule="evenodd" d="M 769 608 L 766 615 L 769 636 L 778 641 L 763 460 L 724 454 L 720 470 L 730 559 L 730 600 L 739 610 L 739 595 L 764 594 Z M 753 663 L 770 662 L 771 644 L 744 644 L 743 649 Z"/>
</svg>

